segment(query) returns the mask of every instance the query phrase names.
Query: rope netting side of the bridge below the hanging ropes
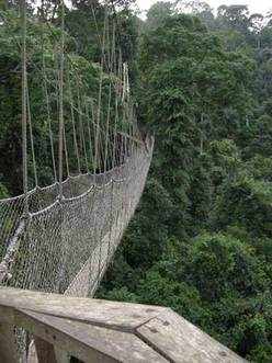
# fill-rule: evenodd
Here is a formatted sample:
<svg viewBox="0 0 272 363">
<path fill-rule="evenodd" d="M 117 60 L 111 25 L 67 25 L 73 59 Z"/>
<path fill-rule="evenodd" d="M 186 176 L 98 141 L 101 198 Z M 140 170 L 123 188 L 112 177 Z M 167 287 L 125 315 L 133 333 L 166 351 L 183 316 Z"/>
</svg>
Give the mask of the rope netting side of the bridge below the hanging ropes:
<svg viewBox="0 0 272 363">
<path fill-rule="evenodd" d="M 84 188 L 89 186 L 83 194 L 64 197 L 61 204 L 56 198 L 43 211 L 31 213 L 3 283 L 76 296 L 93 294 L 137 206 L 150 157 L 139 147 L 126 163 L 101 174 L 97 183 L 94 175 L 83 175 Z M 81 188 L 77 182 L 73 189 L 77 185 Z M 15 201 L 23 203 L 20 197 Z M 8 202 L 13 211 L 14 201 Z M 16 220 L 20 226 L 19 216 Z"/>
</svg>

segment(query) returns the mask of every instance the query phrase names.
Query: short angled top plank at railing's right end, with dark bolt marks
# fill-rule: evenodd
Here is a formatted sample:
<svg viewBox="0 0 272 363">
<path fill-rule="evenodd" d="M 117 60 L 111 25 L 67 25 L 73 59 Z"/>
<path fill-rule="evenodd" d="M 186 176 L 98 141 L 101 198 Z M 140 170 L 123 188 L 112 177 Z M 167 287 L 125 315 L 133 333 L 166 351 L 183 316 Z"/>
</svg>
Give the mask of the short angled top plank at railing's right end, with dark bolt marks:
<svg viewBox="0 0 272 363">
<path fill-rule="evenodd" d="M 137 336 L 170 362 L 246 362 L 171 309 L 137 328 Z"/>
</svg>

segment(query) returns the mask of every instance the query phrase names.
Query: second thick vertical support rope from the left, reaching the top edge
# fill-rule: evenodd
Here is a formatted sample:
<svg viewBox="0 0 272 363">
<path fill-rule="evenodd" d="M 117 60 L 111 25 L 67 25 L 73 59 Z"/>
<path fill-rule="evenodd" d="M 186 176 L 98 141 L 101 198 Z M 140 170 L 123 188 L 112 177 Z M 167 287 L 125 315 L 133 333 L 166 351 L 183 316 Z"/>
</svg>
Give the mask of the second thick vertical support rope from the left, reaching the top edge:
<svg viewBox="0 0 272 363">
<path fill-rule="evenodd" d="M 61 41 L 60 41 L 60 65 L 59 65 L 59 129 L 58 129 L 58 181 L 59 200 L 63 198 L 64 180 L 64 48 L 65 48 L 65 3 L 61 0 Z"/>
</svg>

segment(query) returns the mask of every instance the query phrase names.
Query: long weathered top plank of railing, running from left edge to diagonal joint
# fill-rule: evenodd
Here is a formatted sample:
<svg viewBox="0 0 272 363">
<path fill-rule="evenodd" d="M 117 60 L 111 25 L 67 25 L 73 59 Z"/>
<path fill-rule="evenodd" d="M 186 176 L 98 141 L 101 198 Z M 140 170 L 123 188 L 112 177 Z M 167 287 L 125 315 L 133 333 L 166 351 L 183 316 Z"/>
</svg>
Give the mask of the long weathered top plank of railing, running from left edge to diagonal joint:
<svg viewBox="0 0 272 363">
<path fill-rule="evenodd" d="M 1 306 L 5 307 L 5 311 L 8 307 L 11 311 L 13 308 L 27 309 L 123 331 L 134 331 L 136 327 L 166 309 L 158 306 L 78 298 L 5 287 L 0 287 L 0 315 Z"/>
</svg>

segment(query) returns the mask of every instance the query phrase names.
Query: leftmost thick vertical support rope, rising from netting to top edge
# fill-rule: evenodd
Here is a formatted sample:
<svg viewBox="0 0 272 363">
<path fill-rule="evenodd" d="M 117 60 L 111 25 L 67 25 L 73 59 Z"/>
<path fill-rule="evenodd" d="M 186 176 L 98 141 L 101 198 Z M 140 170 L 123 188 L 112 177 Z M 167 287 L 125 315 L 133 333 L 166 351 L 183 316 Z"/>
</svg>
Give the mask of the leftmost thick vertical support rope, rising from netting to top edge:
<svg viewBox="0 0 272 363">
<path fill-rule="evenodd" d="M 25 196 L 24 213 L 29 214 L 27 182 L 27 95 L 26 95 L 26 9 L 25 0 L 21 0 L 22 18 L 22 154 L 23 154 L 23 190 Z"/>
</svg>

